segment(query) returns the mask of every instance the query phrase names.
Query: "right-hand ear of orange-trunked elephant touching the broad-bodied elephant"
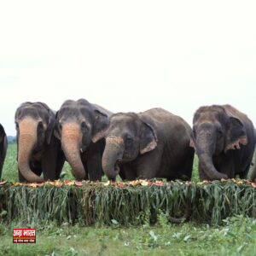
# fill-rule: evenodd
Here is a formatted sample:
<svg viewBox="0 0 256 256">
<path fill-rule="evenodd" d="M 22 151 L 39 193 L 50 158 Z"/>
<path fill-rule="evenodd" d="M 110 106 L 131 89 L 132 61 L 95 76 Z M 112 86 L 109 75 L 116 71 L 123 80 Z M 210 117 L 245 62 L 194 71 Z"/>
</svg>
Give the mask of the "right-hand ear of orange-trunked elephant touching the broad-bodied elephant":
<svg viewBox="0 0 256 256">
<path fill-rule="evenodd" d="M 93 143 L 96 143 L 102 137 L 104 137 L 105 131 L 108 129 L 108 123 L 109 123 L 109 118 L 108 114 L 103 113 L 99 111 L 98 109 L 94 110 L 95 114 L 95 121 L 92 127 L 92 137 L 91 141 Z"/>
</svg>

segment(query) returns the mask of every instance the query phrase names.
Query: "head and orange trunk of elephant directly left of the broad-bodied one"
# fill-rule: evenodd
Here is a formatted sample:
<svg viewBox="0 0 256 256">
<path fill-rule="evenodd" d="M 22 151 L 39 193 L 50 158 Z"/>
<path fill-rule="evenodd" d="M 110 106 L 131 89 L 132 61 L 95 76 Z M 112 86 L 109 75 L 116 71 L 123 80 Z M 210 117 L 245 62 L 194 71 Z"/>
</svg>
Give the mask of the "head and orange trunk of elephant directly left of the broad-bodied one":
<svg viewBox="0 0 256 256">
<path fill-rule="evenodd" d="M 86 174 L 80 153 L 86 151 L 90 143 L 95 143 L 108 127 L 108 115 L 107 110 L 84 99 L 64 102 L 56 114 L 55 137 L 61 140 L 73 176 L 77 179 L 83 179 Z"/>
</svg>

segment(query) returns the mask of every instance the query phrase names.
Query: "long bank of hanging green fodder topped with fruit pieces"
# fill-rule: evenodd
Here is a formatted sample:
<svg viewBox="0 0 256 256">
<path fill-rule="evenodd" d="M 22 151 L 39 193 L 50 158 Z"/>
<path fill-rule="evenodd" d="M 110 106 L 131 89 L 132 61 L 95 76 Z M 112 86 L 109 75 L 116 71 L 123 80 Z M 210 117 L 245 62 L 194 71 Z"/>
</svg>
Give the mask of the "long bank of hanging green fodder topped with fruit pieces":
<svg viewBox="0 0 256 256">
<path fill-rule="evenodd" d="M 125 184 L 125 183 L 124 183 Z M 82 186 L 38 188 L 0 186 L 0 219 L 24 224 L 55 221 L 90 225 L 155 224 L 159 214 L 219 224 L 222 219 L 241 214 L 256 216 L 255 189 L 251 183 L 163 183 L 161 186 Z"/>
</svg>

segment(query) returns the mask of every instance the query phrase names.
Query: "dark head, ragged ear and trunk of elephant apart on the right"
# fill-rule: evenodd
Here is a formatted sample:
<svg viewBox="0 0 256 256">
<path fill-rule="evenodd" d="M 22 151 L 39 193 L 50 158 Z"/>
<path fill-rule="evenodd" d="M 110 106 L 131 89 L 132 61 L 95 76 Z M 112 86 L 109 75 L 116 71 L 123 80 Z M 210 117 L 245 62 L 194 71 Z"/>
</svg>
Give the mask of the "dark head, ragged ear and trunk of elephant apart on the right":
<svg viewBox="0 0 256 256">
<path fill-rule="evenodd" d="M 213 157 L 246 144 L 247 135 L 241 119 L 223 106 L 201 107 L 196 111 L 190 146 L 195 148 L 201 167 L 212 180 L 227 178 L 226 174 L 218 172 Z"/>
</svg>

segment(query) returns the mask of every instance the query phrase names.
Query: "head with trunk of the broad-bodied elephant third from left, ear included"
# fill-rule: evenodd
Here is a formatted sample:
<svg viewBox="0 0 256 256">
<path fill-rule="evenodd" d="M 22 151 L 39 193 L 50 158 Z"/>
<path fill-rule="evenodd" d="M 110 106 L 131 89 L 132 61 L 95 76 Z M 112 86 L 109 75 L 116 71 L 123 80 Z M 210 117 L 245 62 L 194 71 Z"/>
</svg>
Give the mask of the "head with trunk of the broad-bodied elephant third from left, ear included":
<svg viewBox="0 0 256 256">
<path fill-rule="evenodd" d="M 110 118 L 105 132 L 106 146 L 102 168 L 109 179 L 119 174 L 119 164 L 135 160 L 157 146 L 152 121 L 137 113 L 116 113 Z"/>
</svg>

